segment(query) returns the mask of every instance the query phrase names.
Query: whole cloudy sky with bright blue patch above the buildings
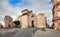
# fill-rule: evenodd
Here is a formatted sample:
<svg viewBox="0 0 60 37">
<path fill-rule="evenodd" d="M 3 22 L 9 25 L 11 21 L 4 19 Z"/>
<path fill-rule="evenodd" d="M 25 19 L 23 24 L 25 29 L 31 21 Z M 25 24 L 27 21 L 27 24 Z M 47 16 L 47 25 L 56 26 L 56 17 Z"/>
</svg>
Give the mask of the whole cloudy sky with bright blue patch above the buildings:
<svg viewBox="0 0 60 37">
<path fill-rule="evenodd" d="M 32 10 L 35 14 L 45 13 L 47 23 L 52 23 L 51 0 L 0 0 L 0 22 L 4 22 L 5 15 L 10 15 L 15 20 L 24 9 Z"/>
</svg>

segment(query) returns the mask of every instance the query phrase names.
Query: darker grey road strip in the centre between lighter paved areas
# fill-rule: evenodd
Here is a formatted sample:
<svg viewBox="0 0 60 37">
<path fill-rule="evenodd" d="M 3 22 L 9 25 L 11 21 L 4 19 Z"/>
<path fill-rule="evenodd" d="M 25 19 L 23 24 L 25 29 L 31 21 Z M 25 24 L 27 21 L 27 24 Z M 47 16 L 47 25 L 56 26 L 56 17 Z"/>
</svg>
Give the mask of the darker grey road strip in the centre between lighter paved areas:
<svg viewBox="0 0 60 37">
<path fill-rule="evenodd" d="M 14 37 L 32 37 L 33 36 L 33 31 L 35 31 L 36 28 L 27 28 L 27 29 L 22 29 L 18 31 Z"/>
</svg>

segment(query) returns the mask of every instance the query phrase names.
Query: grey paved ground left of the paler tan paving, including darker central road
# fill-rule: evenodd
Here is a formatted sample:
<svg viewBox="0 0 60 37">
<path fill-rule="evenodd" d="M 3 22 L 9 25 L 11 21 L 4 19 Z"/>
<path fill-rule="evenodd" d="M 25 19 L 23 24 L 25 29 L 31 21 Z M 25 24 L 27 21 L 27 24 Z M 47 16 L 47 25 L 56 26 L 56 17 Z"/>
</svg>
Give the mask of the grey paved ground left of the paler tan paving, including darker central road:
<svg viewBox="0 0 60 37">
<path fill-rule="evenodd" d="M 36 28 L 0 29 L 0 37 L 32 37 L 35 29 Z"/>
</svg>

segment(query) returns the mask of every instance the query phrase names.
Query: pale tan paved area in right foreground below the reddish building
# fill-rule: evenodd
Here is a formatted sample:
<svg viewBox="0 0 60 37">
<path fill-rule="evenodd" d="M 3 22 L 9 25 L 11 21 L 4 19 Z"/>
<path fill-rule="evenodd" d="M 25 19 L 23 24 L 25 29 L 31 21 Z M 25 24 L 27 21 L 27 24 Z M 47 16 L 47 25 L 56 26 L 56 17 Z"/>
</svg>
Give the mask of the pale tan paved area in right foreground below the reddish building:
<svg viewBox="0 0 60 37">
<path fill-rule="evenodd" d="M 60 37 L 60 30 L 46 29 L 46 31 L 37 30 L 33 37 Z"/>
</svg>

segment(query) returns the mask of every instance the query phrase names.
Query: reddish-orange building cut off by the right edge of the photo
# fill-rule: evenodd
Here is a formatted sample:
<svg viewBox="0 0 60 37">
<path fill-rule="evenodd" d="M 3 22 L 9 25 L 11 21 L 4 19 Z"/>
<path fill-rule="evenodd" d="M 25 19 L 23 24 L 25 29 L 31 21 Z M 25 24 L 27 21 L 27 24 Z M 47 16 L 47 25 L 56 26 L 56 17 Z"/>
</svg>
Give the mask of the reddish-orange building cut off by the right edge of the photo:
<svg viewBox="0 0 60 37">
<path fill-rule="evenodd" d="M 54 29 L 60 28 L 60 0 L 52 0 L 53 3 L 53 26 Z"/>
</svg>

